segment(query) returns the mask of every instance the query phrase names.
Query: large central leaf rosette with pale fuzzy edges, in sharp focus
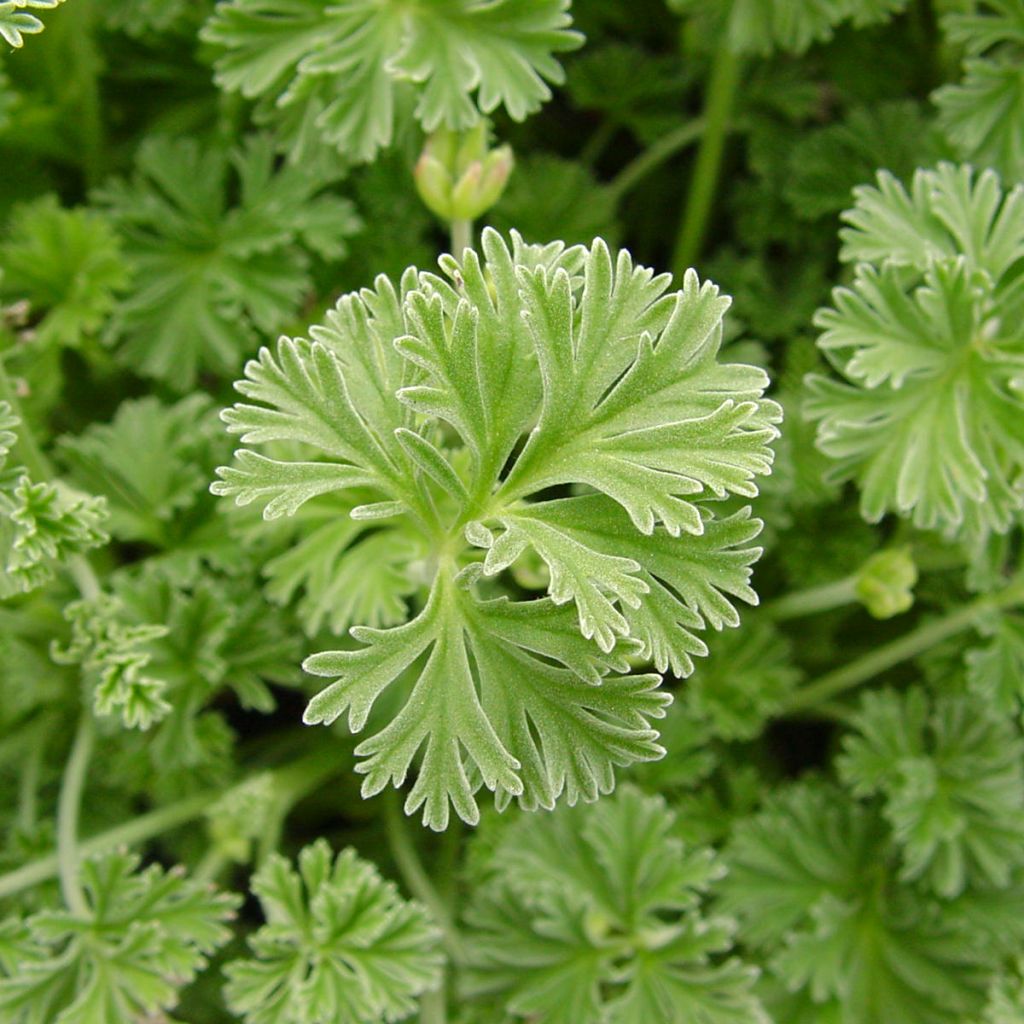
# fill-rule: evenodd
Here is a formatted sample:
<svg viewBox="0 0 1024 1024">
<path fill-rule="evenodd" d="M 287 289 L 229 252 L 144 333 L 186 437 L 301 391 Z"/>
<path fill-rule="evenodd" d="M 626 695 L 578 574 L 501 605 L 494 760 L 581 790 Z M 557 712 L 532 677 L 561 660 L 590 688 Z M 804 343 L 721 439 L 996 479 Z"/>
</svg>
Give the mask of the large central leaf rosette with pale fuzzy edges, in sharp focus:
<svg viewBox="0 0 1024 1024">
<path fill-rule="evenodd" d="M 300 542 L 271 575 L 322 599 L 326 572 L 344 579 L 346 610 L 314 615 L 358 646 L 306 659 L 334 682 L 305 721 L 358 732 L 394 690 L 356 749 L 364 793 L 415 763 L 406 809 L 437 829 L 450 806 L 475 822 L 481 785 L 500 806 L 593 800 L 664 754 L 670 697 L 631 669 L 686 675 L 697 632 L 756 602 L 761 523 L 721 502 L 757 495 L 781 415 L 762 370 L 719 362 L 729 299 L 694 271 L 670 292 L 600 240 L 486 230 L 480 248 L 263 349 L 223 418 L 267 454 L 241 450 L 214 484 L 268 519 L 322 506 L 330 568 Z"/>
</svg>

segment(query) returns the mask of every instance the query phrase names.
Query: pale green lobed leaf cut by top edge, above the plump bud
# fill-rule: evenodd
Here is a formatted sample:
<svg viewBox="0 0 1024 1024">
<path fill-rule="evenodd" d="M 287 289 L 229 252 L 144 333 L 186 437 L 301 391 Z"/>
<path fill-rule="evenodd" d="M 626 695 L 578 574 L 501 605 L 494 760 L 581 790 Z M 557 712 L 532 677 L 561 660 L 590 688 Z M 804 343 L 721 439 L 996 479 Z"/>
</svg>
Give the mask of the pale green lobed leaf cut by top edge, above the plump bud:
<svg viewBox="0 0 1024 1024">
<path fill-rule="evenodd" d="M 468 128 L 503 106 L 522 121 L 560 84 L 556 53 L 583 42 L 568 0 L 230 0 L 203 38 L 219 50 L 217 82 L 278 108 L 305 108 L 323 138 L 373 160 L 394 134 L 399 84 L 414 84 L 426 131 Z M 408 85 L 406 86 L 408 88 Z"/>
</svg>

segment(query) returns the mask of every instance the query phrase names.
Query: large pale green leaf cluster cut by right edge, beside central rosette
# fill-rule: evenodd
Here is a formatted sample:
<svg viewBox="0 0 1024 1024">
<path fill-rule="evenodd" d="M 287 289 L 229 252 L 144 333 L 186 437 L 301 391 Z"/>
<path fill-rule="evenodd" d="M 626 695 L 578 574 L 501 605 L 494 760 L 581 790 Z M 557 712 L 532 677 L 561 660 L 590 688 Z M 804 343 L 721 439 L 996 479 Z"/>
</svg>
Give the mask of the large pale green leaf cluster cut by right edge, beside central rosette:
<svg viewBox="0 0 1024 1024">
<path fill-rule="evenodd" d="M 815 321 L 846 380 L 814 379 L 807 406 L 831 474 L 856 480 L 869 520 L 1004 532 L 1024 503 L 1024 190 L 943 164 L 909 190 L 881 172 L 856 200 L 854 281 Z"/>
</svg>

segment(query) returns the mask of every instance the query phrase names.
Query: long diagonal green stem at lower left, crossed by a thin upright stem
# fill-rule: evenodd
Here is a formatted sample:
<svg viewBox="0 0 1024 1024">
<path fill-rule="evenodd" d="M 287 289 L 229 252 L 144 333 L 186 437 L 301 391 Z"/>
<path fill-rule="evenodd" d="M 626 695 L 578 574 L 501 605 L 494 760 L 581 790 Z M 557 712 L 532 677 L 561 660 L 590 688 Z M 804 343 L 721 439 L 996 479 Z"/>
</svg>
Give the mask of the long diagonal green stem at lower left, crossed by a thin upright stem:
<svg viewBox="0 0 1024 1024">
<path fill-rule="evenodd" d="M 334 755 L 335 752 L 330 752 Z M 341 764 L 336 756 L 332 756 L 330 771 L 326 768 L 327 752 L 317 751 L 308 757 L 293 764 L 285 765 L 281 768 L 272 769 L 275 773 L 295 778 L 303 773 L 308 773 L 310 779 L 323 781 L 328 775 L 333 774 Z M 263 774 L 266 769 L 261 769 L 254 773 Z M 232 793 L 239 792 L 243 786 L 248 785 L 253 776 L 242 779 L 237 785 L 229 790 L 208 790 L 205 793 L 197 793 L 190 797 L 184 797 L 173 804 L 160 807 L 141 814 L 131 821 L 110 828 L 98 836 L 92 836 L 79 844 L 79 853 L 83 857 L 91 857 L 104 850 L 110 850 L 119 846 L 134 846 L 137 843 L 144 843 L 163 833 L 170 831 L 180 825 L 187 824 L 201 817 L 213 804 L 221 799 L 230 799 Z M 0 874 L 0 899 L 13 896 L 15 893 L 24 892 L 33 886 L 38 886 L 58 874 L 60 862 L 58 853 L 48 853 L 36 860 L 23 864 L 13 871 Z"/>
</svg>

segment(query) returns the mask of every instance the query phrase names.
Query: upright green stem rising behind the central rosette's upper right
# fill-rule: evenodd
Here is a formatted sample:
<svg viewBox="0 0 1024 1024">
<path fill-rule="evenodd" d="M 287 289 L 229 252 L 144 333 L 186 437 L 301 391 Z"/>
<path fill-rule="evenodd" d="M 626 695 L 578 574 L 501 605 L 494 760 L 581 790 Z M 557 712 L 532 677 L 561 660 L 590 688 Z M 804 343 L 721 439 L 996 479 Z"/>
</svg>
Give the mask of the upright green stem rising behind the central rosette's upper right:
<svg viewBox="0 0 1024 1024">
<path fill-rule="evenodd" d="M 683 219 L 672 256 L 672 272 L 682 278 L 700 253 L 708 218 L 718 184 L 722 151 L 729 130 L 729 117 L 739 84 L 740 60 L 727 43 L 722 43 L 712 65 L 705 97 L 705 133 L 700 139 L 690 189 L 683 207 Z"/>
</svg>

